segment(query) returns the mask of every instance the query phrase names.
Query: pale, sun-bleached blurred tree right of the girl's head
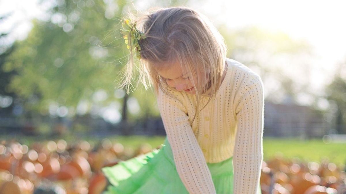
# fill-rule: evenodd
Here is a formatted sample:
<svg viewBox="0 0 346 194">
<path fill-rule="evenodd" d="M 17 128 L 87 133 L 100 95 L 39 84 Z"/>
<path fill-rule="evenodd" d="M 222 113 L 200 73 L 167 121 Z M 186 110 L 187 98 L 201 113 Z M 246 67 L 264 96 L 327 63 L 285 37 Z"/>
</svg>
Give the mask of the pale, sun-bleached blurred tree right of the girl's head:
<svg viewBox="0 0 346 194">
<path fill-rule="evenodd" d="M 228 46 L 227 56 L 261 76 L 267 100 L 294 103 L 287 101 L 287 97 L 297 102 L 302 93 L 315 95 L 315 91 L 309 90 L 314 56 L 313 47 L 307 41 L 259 27 L 229 29 L 224 25 L 219 31 Z"/>
</svg>

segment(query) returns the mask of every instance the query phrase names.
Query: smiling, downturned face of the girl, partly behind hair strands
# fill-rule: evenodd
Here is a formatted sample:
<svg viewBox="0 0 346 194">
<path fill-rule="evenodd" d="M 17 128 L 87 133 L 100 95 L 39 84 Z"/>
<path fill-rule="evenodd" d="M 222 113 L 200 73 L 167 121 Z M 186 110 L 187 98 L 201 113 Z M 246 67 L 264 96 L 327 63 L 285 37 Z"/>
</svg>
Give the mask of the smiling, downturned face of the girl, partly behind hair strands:
<svg viewBox="0 0 346 194">
<path fill-rule="evenodd" d="M 163 80 L 166 80 L 170 87 L 189 94 L 196 94 L 193 84 L 198 86 L 197 80 L 188 74 L 186 69 L 182 69 L 179 64 L 172 65 L 169 69 L 158 70 L 157 72 Z M 201 86 L 206 85 L 208 74 L 198 72 L 198 76 L 201 78 Z"/>
</svg>

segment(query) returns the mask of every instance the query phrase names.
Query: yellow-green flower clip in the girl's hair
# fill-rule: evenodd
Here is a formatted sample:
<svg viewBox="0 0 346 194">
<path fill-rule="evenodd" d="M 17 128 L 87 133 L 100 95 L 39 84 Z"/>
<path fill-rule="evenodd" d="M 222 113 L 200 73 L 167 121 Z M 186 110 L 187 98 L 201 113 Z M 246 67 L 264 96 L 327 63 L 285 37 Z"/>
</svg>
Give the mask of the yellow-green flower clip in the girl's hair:
<svg viewBox="0 0 346 194">
<path fill-rule="evenodd" d="M 143 32 L 139 31 L 136 28 L 137 22 L 131 22 L 130 19 L 126 19 L 124 23 L 121 24 L 122 29 L 120 33 L 122 33 L 125 39 L 125 44 L 127 48 L 135 51 L 135 55 L 138 59 L 140 59 L 140 46 L 139 40 L 146 38 Z"/>
</svg>

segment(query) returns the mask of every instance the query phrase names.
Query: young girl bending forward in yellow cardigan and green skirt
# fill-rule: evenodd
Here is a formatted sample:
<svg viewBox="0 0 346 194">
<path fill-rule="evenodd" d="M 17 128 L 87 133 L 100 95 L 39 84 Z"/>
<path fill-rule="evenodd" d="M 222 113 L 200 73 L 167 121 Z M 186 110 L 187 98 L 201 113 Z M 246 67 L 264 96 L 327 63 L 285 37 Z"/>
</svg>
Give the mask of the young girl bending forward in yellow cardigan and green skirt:
<svg viewBox="0 0 346 194">
<path fill-rule="evenodd" d="M 261 78 L 226 58 L 224 39 L 195 10 L 159 9 L 139 22 L 123 23 L 134 58 L 121 86 L 134 67 L 146 87 L 149 78 L 167 136 L 161 149 L 103 168 L 106 193 L 261 193 Z"/>
</svg>

